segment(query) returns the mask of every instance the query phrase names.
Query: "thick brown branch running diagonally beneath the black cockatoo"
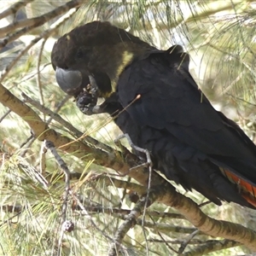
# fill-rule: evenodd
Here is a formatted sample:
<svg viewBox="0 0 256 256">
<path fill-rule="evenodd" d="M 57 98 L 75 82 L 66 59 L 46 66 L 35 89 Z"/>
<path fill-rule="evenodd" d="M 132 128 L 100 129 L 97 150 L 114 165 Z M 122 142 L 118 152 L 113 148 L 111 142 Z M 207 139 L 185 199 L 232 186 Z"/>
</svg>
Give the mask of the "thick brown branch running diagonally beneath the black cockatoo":
<svg viewBox="0 0 256 256">
<path fill-rule="evenodd" d="M 0 102 L 24 119 L 31 127 L 34 136 L 38 137 L 38 140 L 50 140 L 52 143 L 55 143 L 57 148 L 61 148 L 61 150 L 81 159 L 84 158 L 85 153 L 89 154 L 88 159 L 94 159 L 97 165 L 110 167 L 120 173 L 129 173 L 130 177 L 135 178 L 139 183 L 143 184 L 143 186 L 148 187 L 147 170 L 135 169 L 129 172 L 131 167 L 137 165 L 139 162 L 136 155 L 125 152 L 123 159 L 119 152 L 117 152 L 116 155 L 108 154 L 108 152 L 100 148 L 92 148 L 91 145 L 81 140 L 73 141 L 69 137 L 62 136 L 53 129 L 49 129 L 48 125 L 39 118 L 38 114 L 35 113 L 32 108 L 26 106 L 24 102 L 21 102 L 17 97 L 11 94 L 9 90 L 6 90 L 2 84 L 0 84 Z M 247 229 L 241 226 L 241 224 L 233 224 L 208 217 L 205 213 L 201 212 L 201 209 L 194 201 L 177 193 L 172 187 L 172 184 L 168 183 L 156 172 L 152 173 L 151 185 L 151 188 L 154 188 L 155 201 L 174 207 L 202 232 L 210 236 L 221 236 L 226 239 L 241 242 L 256 252 L 255 231 Z"/>
</svg>

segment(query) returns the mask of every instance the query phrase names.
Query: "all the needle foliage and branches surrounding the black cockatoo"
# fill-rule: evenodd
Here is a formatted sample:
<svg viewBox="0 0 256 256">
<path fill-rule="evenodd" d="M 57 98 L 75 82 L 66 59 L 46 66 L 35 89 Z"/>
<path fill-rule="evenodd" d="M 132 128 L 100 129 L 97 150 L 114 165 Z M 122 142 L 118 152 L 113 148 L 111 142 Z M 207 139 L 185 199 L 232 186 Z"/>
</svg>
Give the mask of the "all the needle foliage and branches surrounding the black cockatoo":
<svg viewBox="0 0 256 256">
<path fill-rule="evenodd" d="M 202 224 L 203 213 L 183 195 L 207 216 L 252 230 L 255 211 L 205 204 L 177 186 L 176 194 L 156 173 L 149 186 L 148 167 L 128 173 L 140 161 L 113 143 L 121 132 L 107 115 L 79 113 L 50 64 L 55 40 L 91 20 L 108 20 L 160 49 L 181 44 L 214 107 L 256 142 L 254 1 L 0 3 L 0 255 L 256 251 L 255 233 L 209 218 Z"/>
</svg>

